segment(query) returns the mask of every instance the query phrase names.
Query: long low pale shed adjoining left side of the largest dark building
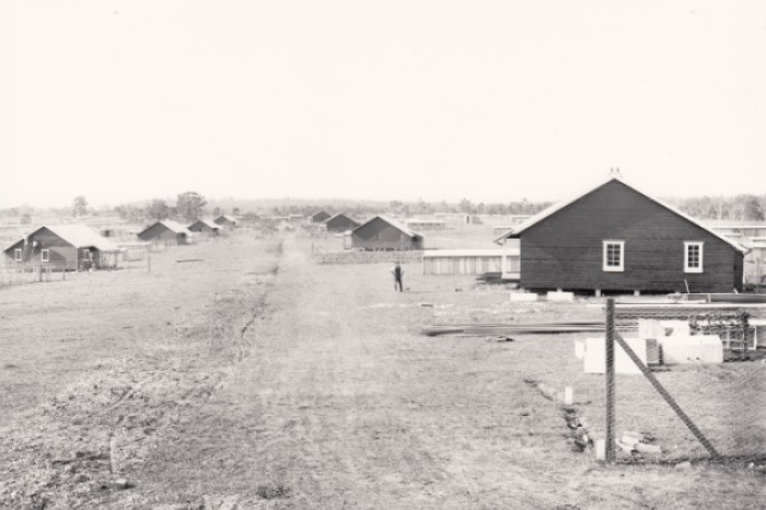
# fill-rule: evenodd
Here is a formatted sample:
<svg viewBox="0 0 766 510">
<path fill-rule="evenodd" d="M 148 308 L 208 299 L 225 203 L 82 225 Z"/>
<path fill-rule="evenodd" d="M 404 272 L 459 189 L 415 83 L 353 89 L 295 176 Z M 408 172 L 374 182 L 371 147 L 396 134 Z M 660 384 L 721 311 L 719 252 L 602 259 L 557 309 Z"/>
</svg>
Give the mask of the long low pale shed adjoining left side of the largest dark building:
<svg viewBox="0 0 766 510">
<path fill-rule="evenodd" d="M 427 250 L 422 254 L 423 275 L 483 275 L 499 273 L 506 280 L 520 277 L 518 247 L 504 250 Z"/>
</svg>

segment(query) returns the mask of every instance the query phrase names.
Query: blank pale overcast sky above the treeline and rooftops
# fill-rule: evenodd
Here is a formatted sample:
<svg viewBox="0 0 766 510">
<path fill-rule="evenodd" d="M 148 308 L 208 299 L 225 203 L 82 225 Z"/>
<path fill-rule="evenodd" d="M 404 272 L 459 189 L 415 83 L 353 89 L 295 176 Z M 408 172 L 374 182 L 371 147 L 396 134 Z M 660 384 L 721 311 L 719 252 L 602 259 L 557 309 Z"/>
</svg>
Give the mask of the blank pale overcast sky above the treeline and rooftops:
<svg viewBox="0 0 766 510">
<path fill-rule="evenodd" d="M 0 0 L 0 207 L 766 193 L 766 2 Z"/>
</svg>

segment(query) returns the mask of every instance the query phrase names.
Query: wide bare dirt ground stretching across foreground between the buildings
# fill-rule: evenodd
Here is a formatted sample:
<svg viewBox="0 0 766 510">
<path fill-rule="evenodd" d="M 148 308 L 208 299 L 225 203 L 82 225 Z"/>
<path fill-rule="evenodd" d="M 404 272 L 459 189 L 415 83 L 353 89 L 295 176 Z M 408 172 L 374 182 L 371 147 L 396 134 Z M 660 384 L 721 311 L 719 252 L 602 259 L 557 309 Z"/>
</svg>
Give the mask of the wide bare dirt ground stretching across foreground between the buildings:
<svg viewBox="0 0 766 510">
<path fill-rule="evenodd" d="M 396 293 L 387 264 L 314 264 L 311 243 L 245 231 L 152 273 L 0 289 L 0 507 L 763 508 L 766 364 L 658 374 L 727 457 L 681 467 L 704 450 L 618 378 L 618 430 L 665 453 L 606 467 L 567 427 L 603 437 L 582 335 L 418 333 L 422 302 L 455 322 L 597 311 L 511 305 L 418 264 Z"/>
</svg>

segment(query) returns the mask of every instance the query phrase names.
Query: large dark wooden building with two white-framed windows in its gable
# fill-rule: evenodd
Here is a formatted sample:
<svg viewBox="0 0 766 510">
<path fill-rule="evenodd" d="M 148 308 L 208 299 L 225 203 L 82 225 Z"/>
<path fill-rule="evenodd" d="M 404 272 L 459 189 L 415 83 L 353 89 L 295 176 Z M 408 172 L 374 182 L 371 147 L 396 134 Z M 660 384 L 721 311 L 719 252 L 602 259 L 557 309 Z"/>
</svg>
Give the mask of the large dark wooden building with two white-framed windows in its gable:
<svg viewBox="0 0 766 510">
<path fill-rule="evenodd" d="M 742 246 L 616 176 L 496 241 L 508 239 L 519 240 L 520 281 L 526 289 L 742 289 Z"/>
</svg>

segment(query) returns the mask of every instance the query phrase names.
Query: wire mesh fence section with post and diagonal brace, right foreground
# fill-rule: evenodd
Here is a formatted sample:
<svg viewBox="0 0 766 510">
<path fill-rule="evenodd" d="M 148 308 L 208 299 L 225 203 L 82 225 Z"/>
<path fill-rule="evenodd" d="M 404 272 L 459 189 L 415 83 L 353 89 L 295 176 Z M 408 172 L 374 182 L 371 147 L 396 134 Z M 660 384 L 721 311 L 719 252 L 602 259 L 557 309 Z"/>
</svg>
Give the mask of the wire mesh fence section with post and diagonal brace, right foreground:
<svg viewBox="0 0 766 510">
<path fill-rule="evenodd" d="M 607 305 L 616 373 L 612 385 L 606 369 L 606 460 L 766 459 L 766 350 L 753 324 L 759 310 Z"/>
</svg>

